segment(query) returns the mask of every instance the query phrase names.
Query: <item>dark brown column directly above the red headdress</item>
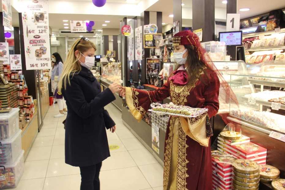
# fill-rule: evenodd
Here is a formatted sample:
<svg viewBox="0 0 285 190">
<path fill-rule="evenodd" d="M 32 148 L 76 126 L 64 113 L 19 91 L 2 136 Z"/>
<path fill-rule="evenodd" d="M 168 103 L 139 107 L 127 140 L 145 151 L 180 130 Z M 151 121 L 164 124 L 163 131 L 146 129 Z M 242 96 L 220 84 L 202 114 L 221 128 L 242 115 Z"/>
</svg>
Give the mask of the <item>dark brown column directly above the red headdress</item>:
<svg viewBox="0 0 285 190">
<path fill-rule="evenodd" d="M 215 1 L 193 0 L 193 30 L 203 29 L 203 42 L 215 40 Z"/>
</svg>

